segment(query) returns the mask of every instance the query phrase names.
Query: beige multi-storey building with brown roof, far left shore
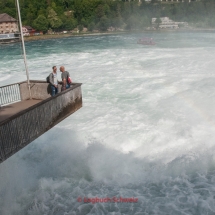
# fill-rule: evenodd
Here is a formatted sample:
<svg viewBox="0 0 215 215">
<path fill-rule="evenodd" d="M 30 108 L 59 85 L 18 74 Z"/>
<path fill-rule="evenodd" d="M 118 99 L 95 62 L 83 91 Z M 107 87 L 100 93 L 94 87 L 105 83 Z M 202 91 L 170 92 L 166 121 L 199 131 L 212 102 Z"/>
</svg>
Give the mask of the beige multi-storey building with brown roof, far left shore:
<svg viewBox="0 0 215 215">
<path fill-rule="evenodd" d="M 6 13 L 0 14 L 0 34 L 16 33 L 19 31 L 17 20 Z"/>
</svg>

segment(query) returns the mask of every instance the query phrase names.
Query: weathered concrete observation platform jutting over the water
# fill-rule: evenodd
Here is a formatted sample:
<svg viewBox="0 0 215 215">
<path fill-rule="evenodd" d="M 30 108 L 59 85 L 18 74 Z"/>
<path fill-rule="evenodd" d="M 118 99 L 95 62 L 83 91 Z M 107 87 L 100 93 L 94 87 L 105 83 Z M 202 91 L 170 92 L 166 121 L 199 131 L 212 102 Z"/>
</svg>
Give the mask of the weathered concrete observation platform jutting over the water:
<svg viewBox="0 0 215 215">
<path fill-rule="evenodd" d="M 0 163 L 82 107 L 80 83 L 51 97 L 50 84 L 30 81 L 0 87 Z"/>
</svg>

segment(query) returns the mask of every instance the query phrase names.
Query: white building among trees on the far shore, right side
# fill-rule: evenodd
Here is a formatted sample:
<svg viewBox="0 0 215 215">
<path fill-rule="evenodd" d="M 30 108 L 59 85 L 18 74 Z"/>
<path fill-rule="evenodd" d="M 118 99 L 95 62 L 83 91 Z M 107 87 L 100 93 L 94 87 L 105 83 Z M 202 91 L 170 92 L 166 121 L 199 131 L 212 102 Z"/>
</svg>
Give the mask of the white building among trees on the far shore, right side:
<svg viewBox="0 0 215 215">
<path fill-rule="evenodd" d="M 157 18 L 152 18 L 152 26 L 156 26 Z M 187 22 L 175 22 L 173 20 L 171 20 L 169 17 L 161 17 L 160 18 L 161 23 L 159 23 L 158 27 L 160 29 L 178 29 L 181 26 L 187 27 L 188 23 Z"/>
</svg>

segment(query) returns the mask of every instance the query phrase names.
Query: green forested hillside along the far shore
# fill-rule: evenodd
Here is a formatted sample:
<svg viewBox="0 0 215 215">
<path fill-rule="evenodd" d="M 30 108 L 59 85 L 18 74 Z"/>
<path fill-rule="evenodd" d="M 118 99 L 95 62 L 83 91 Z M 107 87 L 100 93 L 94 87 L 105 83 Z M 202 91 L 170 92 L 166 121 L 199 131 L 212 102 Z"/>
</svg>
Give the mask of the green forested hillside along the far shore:
<svg viewBox="0 0 215 215">
<path fill-rule="evenodd" d="M 166 3 L 152 0 L 20 0 L 24 25 L 37 30 L 72 30 L 87 27 L 106 31 L 108 27 L 144 29 L 152 17 L 168 16 L 196 27 L 215 27 L 215 0 Z M 17 18 L 15 0 L 0 0 L 0 13 Z"/>
</svg>

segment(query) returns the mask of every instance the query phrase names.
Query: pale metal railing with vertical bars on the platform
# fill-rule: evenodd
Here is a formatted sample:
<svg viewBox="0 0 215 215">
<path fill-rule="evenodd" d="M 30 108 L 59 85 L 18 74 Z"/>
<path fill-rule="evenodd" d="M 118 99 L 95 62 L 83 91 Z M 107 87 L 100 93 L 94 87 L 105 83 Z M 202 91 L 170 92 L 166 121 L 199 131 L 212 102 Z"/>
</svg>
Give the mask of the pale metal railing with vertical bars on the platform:
<svg viewBox="0 0 215 215">
<path fill-rule="evenodd" d="M 19 84 L 0 87 L 0 105 L 21 101 Z"/>
</svg>

